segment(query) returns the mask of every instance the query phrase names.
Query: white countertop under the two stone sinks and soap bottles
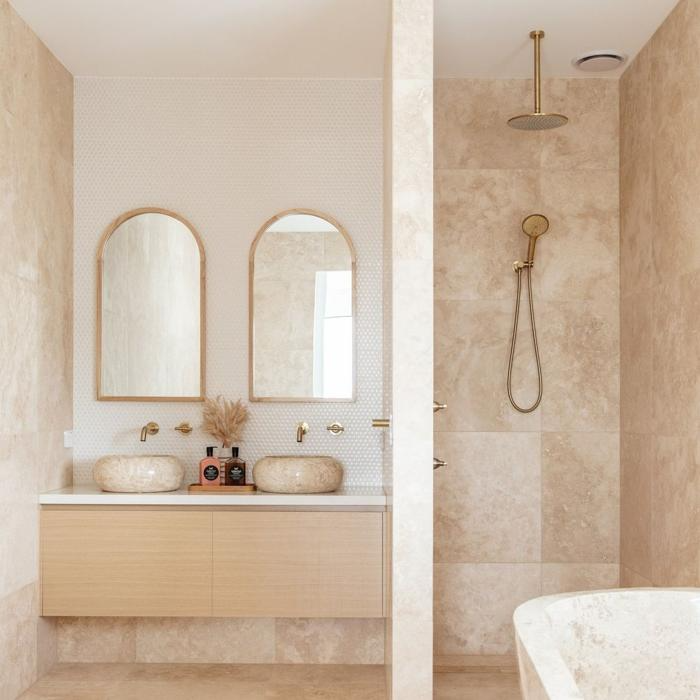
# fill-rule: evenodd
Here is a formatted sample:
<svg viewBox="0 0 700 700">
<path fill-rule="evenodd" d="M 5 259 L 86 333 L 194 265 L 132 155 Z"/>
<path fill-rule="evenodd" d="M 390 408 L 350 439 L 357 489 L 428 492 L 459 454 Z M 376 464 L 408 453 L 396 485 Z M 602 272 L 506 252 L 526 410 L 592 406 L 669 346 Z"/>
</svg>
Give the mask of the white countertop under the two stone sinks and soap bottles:
<svg viewBox="0 0 700 700">
<path fill-rule="evenodd" d="M 108 493 L 94 484 L 76 484 L 39 496 L 42 505 L 81 506 L 380 506 L 387 503 L 381 486 L 353 486 L 332 493 Z"/>
</svg>

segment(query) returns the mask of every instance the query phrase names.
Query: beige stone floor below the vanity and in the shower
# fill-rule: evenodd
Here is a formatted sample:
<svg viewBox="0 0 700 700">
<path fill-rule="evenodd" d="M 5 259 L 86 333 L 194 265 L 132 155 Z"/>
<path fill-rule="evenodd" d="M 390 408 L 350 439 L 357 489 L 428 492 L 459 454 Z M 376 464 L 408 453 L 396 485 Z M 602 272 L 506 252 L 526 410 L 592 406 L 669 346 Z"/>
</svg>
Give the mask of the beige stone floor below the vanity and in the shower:
<svg viewBox="0 0 700 700">
<path fill-rule="evenodd" d="M 59 664 L 22 700 L 385 700 L 382 666 Z M 435 675 L 435 700 L 520 700 L 515 673 Z"/>
</svg>

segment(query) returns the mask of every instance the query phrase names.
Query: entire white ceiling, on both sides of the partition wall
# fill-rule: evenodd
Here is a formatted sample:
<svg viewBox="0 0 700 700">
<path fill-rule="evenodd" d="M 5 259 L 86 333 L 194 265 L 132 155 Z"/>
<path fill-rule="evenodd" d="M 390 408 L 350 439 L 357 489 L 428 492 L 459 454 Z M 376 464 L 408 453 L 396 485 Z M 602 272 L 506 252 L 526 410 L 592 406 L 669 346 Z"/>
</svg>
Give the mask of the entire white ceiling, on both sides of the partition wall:
<svg viewBox="0 0 700 700">
<path fill-rule="evenodd" d="M 75 75 L 378 78 L 389 0 L 11 0 Z M 639 51 L 677 0 L 435 0 L 440 77 L 591 75 L 584 51 Z M 617 71 L 619 74 L 621 71 Z M 600 75 L 600 74 L 593 74 Z M 605 73 L 604 75 L 616 75 Z"/>
</svg>

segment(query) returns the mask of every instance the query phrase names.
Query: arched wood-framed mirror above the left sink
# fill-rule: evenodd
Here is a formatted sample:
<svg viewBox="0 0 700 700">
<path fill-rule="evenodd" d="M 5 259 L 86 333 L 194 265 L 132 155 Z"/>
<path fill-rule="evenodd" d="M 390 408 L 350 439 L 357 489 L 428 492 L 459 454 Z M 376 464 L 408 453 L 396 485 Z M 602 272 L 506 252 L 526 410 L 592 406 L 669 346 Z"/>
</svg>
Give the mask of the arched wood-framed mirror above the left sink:
<svg viewBox="0 0 700 700">
<path fill-rule="evenodd" d="M 137 209 L 97 256 L 97 398 L 204 398 L 204 248 L 192 225 Z"/>
</svg>

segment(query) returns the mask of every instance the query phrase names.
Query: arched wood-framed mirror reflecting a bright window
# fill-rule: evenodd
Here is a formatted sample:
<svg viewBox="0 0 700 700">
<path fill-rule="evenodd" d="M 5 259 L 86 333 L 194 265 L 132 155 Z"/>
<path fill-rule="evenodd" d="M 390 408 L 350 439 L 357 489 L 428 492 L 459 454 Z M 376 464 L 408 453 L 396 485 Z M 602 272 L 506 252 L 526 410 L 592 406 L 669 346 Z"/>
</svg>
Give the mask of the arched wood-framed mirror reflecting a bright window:
<svg viewBox="0 0 700 700">
<path fill-rule="evenodd" d="M 353 401 L 355 250 L 330 216 L 267 221 L 250 252 L 250 399 Z"/>
</svg>

